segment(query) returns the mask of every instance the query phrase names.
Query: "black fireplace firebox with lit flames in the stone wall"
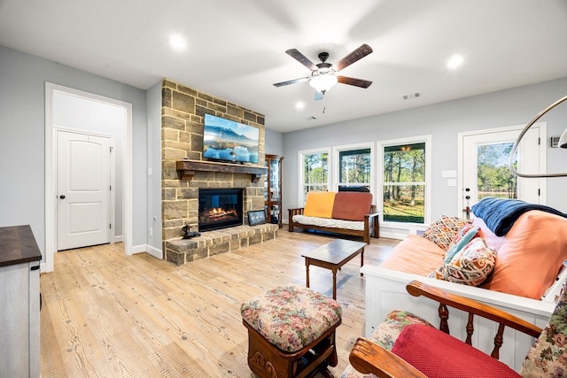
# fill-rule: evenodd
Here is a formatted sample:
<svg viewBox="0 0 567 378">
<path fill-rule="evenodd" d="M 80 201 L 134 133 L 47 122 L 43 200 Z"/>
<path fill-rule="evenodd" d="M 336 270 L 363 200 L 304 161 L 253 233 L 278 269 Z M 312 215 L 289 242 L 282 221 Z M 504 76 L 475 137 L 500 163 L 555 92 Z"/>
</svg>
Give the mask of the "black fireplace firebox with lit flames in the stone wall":
<svg viewBox="0 0 567 378">
<path fill-rule="evenodd" d="M 242 189 L 199 189 L 199 231 L 241 226 L 243 224 L 242 198 Z"/>
</svg>

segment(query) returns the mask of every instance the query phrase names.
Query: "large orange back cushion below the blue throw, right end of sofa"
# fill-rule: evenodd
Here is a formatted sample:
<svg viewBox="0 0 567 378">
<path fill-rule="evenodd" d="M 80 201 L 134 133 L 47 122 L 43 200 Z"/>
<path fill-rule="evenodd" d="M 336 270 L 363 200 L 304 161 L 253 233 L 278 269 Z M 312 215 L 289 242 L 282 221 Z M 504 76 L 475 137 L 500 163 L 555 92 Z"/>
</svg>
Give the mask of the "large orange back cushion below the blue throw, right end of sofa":
<svg viewBox="0 0 567 378">
<path fill-rule="evenodd" d="M 504 238 L 484 287 L 540 299 L 567 259 L 567 219 L 537 210 L 525 212 Z"/>
</svg>

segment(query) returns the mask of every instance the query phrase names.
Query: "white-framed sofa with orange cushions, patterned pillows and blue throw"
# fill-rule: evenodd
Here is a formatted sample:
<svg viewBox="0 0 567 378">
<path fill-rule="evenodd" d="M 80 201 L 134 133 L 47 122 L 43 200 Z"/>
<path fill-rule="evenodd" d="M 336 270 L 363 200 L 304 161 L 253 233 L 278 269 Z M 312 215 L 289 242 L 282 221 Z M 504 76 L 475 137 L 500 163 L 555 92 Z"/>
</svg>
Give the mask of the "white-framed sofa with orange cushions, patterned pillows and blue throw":
<svg viewBox="0 0 567 378">
<path fill-rule="evenodd" d="M 511 215 L 501 208 L 501 204 L 509 201 L 513 200 L 487 199 L 481 206 L 473 206 L 471 222 L 440 217 L 423 235 L 407 235 L 381 266 L 362 266 L 361 273 L 366 277 L 366 336 L 370 336 L 386 315 L 396 309 L 418 312 L 431 323 L 439 323 L 436 305 L 408 295 L 406 285 L 414 280 L 492 305 L 545 328 L 567 278 L 564 266 L 567 218 L 545 206 Z M 477 214 L 482 214 L 484 219 Z M 509 229 L 503 234 L 501 228 L 494 228 L 494 215 L 507 221 L 506 228 Z M 465 228 L 476 229 L 476 237 L 465 241 L 462 250 L 447 263 L 448 252 L 462 241 Z M 461 240 L 456 240 L 459 236 Z M 479 247 L 482 244 L 485 246 Z M 483 258 L 474 253 L 463 258 L 462 252 L 467 250 Z M 479 252 L 481 250 L 483 253 Z M 478 269 L 459 270 L 460 266 L 451 266 L 455 258 L 462 266 L 476 265 Z M 470 261 L 463 263 L 466 258 Z M 449 266 L 454 270 L 447 272 Z M 452 312 L 449 327 L 465 329 L 467 321 L 468 314 Z M 484 320 L 475 320 L 475 328 L 491 327 L 493 325 Z M 501 361 L 519 370 L 533 341 L 533 337 L 517 331 L 505 333 L 504 343 L 514 345 L 514 348 L 501 355 Z M 487 353 L 493 346 L 491 338 L 482 336 L 477 336 L 474 343 Z"/>
</svg>

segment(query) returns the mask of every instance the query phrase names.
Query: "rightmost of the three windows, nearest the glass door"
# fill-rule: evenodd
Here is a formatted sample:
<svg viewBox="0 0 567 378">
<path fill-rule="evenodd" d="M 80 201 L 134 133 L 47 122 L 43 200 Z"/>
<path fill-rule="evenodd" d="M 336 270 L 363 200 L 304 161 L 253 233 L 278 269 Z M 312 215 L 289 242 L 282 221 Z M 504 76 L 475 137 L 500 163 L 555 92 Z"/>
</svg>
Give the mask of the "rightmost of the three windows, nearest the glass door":
<svg viewBox="0 0 567 378">
<path fill-rule="evenodd" d="M 427 220 L 429 139 L 382 144 L 384 221 L 424 223 Z"/>
</svg>

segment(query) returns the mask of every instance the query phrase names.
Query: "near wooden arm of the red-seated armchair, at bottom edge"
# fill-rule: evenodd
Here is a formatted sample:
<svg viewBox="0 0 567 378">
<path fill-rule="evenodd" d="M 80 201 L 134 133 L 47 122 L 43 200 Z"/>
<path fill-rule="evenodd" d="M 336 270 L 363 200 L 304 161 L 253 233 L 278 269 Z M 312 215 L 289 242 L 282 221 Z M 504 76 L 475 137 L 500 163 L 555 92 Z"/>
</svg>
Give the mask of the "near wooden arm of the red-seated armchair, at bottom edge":
<svg viewBox="0 0 567 378">
<path fill-rule="evenodd" d="M 351 365 L 363 374 L 378 378 L 424 378 L 425 375 L 400 357 L 368 339 L 359 337 L 349 356 Z"/>
</svg>

